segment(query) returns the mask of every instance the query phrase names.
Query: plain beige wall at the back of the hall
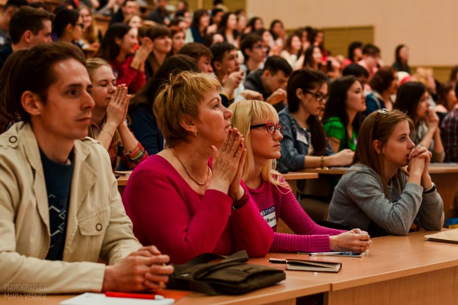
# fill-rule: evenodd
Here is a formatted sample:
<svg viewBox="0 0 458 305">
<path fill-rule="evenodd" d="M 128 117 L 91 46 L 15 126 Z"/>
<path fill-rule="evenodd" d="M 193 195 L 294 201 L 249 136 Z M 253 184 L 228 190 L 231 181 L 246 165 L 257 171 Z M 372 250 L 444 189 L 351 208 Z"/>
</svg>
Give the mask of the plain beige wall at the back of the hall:
<svg viewBox="0 0 458 305">
<path fill-rule="evenodd" d="M 277 18 L 286 28 L 373 25 L 386 64 L 400 43 L 409 46 L 412 66 L 458 64 L 456 0 L 246 0 L 246 10 L 266 27 Z"/>
</svg>

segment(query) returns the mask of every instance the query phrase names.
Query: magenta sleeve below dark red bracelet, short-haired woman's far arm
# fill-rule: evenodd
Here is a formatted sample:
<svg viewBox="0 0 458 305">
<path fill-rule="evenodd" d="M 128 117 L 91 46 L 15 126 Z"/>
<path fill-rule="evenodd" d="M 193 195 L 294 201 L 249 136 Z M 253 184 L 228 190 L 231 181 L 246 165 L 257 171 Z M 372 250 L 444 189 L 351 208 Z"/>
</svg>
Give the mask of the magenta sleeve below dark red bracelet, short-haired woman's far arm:
<svg viewBox="0 0 458 305">
<path fill-rule="evenodd" d="M 258 206 L 246 189 L 248 202 L 241 208 L 232 211 L 231 222 L 234 232 L 234 251 L 245 250 L 249 257 L 263 257 L 269 253 L 274 232 L 262 218 Z"/>
</svg>

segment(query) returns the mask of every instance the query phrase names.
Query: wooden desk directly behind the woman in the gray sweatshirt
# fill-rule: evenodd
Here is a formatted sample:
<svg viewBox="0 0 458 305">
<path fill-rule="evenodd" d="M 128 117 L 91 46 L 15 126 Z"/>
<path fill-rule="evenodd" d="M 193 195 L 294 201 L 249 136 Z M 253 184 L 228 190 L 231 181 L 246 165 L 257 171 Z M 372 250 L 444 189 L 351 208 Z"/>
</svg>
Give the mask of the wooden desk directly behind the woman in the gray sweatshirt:
<svg viewBox="0 0 458 305">
<path fill-rule="evenodd" d="M 303 173 L 317 173 L 320 175 L 340 175 L 347 172 L 348 168 L 329 168 L 329 169 L 304 169 Z M 458 217 L 455 197 L 458 195 L 458 165 L 431 163 L 429 173 L 432 182 L 436 185 L 437 192 L 444 202 L 445 219 Z"/>
</svg>

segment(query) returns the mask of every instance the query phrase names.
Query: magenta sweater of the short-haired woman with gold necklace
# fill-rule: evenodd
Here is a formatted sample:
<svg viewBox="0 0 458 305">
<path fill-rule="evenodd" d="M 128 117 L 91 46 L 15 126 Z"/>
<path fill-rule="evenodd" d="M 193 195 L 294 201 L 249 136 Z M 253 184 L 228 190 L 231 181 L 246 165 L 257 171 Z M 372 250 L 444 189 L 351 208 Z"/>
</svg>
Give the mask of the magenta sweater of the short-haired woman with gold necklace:
<svg viewBox="0 0 458 305">
<path fill-rule="evenodd" d="M 175 264 L 202 253 L 227 255 L 242 249 L 262 257 L 272 244 L 273 231 L 251 198 L 233 211 L 227 194 L 196 193 L 159 155 L 135 167 L 122 200 L 140 243 L 157 246 Z"/>
</svg>

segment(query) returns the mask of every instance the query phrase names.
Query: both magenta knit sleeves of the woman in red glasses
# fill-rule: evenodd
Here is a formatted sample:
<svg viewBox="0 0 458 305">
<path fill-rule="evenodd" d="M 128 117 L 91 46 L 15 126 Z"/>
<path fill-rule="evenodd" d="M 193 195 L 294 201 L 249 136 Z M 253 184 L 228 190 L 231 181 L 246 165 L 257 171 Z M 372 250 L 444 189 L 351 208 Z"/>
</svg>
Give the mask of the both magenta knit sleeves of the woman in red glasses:
<svg viewBox="0 0 458 305">
<path fill-rule="evenodd" d="M 275 187 L 273 189 L 276 190 Z M 329 252 L 329 235 L 346 232 L 317 225 L 300 206 L 291 191 L 282 194 L 281 198 L 279 217 L 296 234 L 275 232 L 271 252 Z"/>
</svg>

